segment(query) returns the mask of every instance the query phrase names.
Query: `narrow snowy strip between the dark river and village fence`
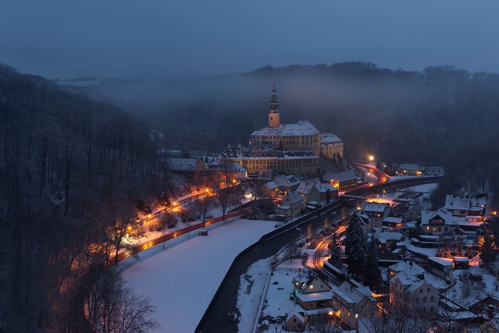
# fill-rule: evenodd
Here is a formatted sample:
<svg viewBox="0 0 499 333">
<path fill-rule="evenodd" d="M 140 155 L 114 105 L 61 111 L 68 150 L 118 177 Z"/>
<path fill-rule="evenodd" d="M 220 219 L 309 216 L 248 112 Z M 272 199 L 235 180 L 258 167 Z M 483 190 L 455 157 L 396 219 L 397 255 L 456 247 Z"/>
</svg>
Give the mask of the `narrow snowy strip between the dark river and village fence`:
<svg viewBox="0 0 499 333">
<path fill-rule="evenodd" d="M 253 331 L 272 257 L 258 260 L 240 277 L 237 308 L 241 314 L 238 318 L 241 333 Z"/>
</svg>

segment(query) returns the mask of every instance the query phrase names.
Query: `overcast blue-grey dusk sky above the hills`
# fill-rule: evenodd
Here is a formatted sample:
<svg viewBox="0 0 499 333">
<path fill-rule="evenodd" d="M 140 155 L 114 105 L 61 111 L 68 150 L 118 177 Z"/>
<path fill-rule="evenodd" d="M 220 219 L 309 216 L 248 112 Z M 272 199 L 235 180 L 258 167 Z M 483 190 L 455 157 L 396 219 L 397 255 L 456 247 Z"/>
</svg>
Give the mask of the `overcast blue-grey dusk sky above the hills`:
<svg viewBox="0 0 499 333">
<path fill-rule="evenodd" d="M 499 71 L 499 1 L 2 0 L 0 62 L 47 78 L 372 61 Z"/>
</svg>

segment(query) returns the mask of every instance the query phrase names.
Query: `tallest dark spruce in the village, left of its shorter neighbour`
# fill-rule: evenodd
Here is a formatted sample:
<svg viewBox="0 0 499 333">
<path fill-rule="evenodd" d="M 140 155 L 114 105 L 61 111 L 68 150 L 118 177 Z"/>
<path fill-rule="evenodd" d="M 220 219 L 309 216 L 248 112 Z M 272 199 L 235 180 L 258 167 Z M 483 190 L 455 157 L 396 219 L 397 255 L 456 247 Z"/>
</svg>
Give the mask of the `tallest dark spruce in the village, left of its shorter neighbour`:
<svg viewBox="0 0 499 333">
<path fill-rule="evenodd" d="M 345 255 L 348 274 L 360 276 L 366 260 L 366 239 L 357 213 L 352 215 L 345 231 Z"/>
</svg>

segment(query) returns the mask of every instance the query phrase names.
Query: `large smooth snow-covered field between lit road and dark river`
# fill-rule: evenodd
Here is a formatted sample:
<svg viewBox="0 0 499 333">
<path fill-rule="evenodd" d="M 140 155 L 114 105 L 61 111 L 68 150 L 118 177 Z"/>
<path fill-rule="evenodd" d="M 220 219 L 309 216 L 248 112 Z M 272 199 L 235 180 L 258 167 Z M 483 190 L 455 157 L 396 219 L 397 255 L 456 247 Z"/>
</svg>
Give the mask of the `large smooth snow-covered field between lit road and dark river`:
<svg viewBox="0 0 499 333">
<path fill-rule="evenodd" d="M 274 223 L 235 221 L 127 269 L 128 284 L 158 307 L 156 332 L 194 332 L 236 256 L 274 230 Z"/>
</svg>

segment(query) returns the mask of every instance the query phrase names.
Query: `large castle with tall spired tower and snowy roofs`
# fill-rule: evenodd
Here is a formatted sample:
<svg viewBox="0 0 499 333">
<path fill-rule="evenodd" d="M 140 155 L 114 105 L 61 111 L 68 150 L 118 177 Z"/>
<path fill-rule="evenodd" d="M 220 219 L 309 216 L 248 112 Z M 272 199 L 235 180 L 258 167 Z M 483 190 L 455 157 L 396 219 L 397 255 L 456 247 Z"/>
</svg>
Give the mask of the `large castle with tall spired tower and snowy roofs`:
<svg viewBox="0 0 499 333">
<path fill-rule="evenodd" d="M 251 133 L 249 148 L 229 145 L 219 160 L 237 162 L 249 174 L 261 169 L 280 171 L 286 175 L 306 174 L 315 177 L 319 156 L 343 157 L 343 141 L 332 133 L 320 133 L 309 121 L 281 124 L 275 83 L 272 88 L 268 126 Z"/>
</svg>

